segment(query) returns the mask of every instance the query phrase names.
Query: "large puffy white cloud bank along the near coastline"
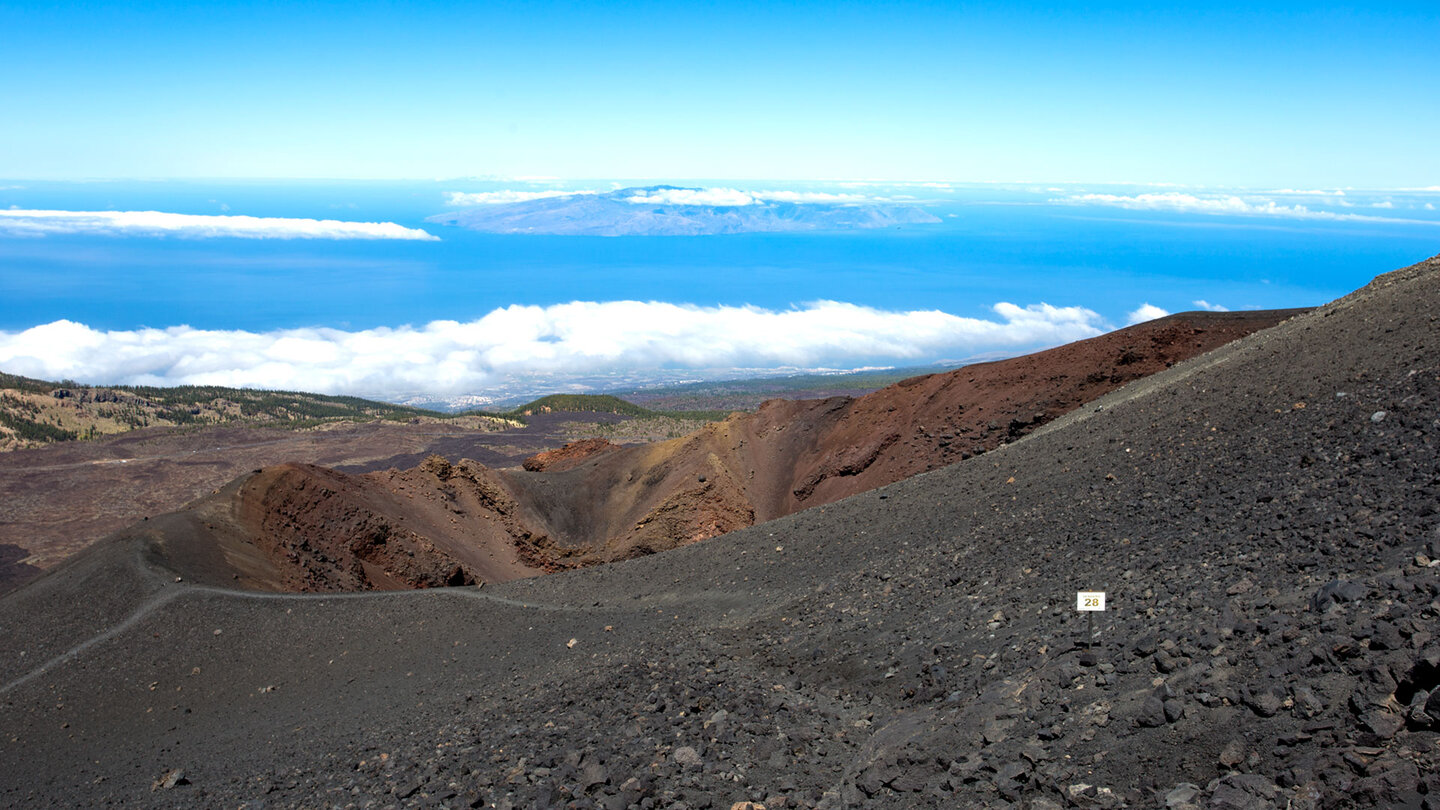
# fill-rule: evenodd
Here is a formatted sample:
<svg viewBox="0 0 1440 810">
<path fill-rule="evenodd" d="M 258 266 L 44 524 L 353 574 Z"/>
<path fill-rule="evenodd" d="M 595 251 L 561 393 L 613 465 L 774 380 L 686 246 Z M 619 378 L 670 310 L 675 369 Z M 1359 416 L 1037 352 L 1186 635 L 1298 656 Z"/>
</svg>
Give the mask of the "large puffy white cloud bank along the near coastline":
<svg viewBox="0 0 1440 810">
<path fill-rule="evenodd" d="M 0 331 L 0 368 L 42 379 L 327 393 L 474 393 L 514 375 L 675 368 L 847 368 L 1053 346 L 1099 334 L 1083 307 L 1001 303 L 996 319 L 838 301 L 791 310 L 657 301 L 513 306 L 420 327 L 101 331 L 59 320 Z"/>
</svg>

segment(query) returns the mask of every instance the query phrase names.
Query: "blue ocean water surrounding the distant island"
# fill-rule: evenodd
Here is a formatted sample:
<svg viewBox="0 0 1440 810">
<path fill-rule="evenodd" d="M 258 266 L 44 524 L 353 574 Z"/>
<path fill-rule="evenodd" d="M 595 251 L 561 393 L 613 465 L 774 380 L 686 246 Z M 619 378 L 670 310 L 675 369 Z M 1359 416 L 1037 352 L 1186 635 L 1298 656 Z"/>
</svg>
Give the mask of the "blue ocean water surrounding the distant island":
<svg viewBox="0 0 1440 810">
<path fill-rule="evenodd" d="M 840 301 L 968 319 L 994 319 L 1001 301 L 1045 303 L 1084 307 L 1113 327 L 1143 304 L 1165 311 L 1322 304 L 1440 252 L 1440 216 L 1430 203 L 1440 195 L 1430 190 L 1335 192 L 1320 200 L 1344 203 L 1323 209 L 1333 213 L 1319 216 L 1312 200 L 1303 216 L 1277 216 L 1188 210 L 1171 205 L 1178 197 L 1149 208 L 1077 205 L 1092 190 L 1073 187 L 891 187 L 884 193 L 913 199 L 940 222 L 713 236 L 505 235 L 425 222 L 446 209 L 448 190 L 501 186 L 3 182 L 4 209 L 393 222 L 438 239 L 0 229 L 0 334 L 59 320 L 102 331 L 356 331 L 474 321 L 517 304 L 626 300 L 776 311 Z M 1125 199 L 1132 197 L 1139 199 L 1133 192 Z M 939 357 L 906 362 L 932 359 Z"/>
</svg>

